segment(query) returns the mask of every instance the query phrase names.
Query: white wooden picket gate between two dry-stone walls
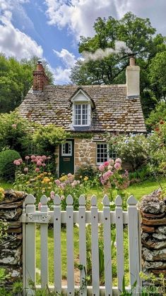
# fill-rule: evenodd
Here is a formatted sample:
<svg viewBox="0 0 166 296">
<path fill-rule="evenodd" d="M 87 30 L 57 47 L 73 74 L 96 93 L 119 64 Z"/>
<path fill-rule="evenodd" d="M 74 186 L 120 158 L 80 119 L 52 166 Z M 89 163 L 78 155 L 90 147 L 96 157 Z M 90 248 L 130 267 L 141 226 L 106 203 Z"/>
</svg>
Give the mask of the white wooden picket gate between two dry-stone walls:
<svg viewBox="0 0 166 296">
<path fill-rule="evenodd" d="M 128 225 L 129 233 L 129 273 L 130 285 L 126 290 L 136 283 L 140 287 L 139 272 L 141 271 L 141 242 L 140 242 L 140 221 L 136 208 L 136 199 L 129 197 L 128 210 L 123 211 L 121 197 L 115 200 L 116 209 L 110 211 L 109 198 L 105 196 L 102 200 L 103 210 L 97 209 L 97 198 L 91 198 L 90 211 L 85 210 L 85 197 L 79 198 L 79 210 L 73 211 L 73 198 L 69 195 L 66 199 L 66 211 L 61 211 L 61 199 L 57 195 L 54 197 L 54 211 L 49 211 L 47 197 L 42 196 L 40 200 L 42 206 L 40 211 L 35 211 L 35 197 L 28 195 L 23 207 L 23 288 L 25 295 L 33 295 L 30 290 L 29 280 L 36 283 L 36 246 L 35 229 L 36 224 L 40 224 L 40 269 L 41 288 L 48 285 L 48 223 L 54 224 L 54 286 L 49 287 L 57 292 L 57 295 L 76 295 L 76 291 L 81 291 L 79 295 L 120 295 L 124 278 L 124 225 Z M 61 223 L 66 223 L 66 266 L 67 285 L 61 285 Z M 74 245 L 73 226 L 79 224 L 79 263 L 83 266 L 80 271 L 80 286 L 74 285 Z M 91 224 L 91 259 L 92 259 L 92 286 L 83 285 L 86 276 L 86 225 Z M 100 286 L 99 271 L 99 249 L 98 249 L 98 226 L 103 225 L 104 240 L 104 261 L 105 261 L 105 286 Z M 116 225 L 117 242 L 117 287 L 112 286 L 112 258 L 111 258 L 111 224 Z M 39 287 L 37 287 L 39 288 Z M 134 295 L 138 295 L 134 294 Z"/>
</svg>

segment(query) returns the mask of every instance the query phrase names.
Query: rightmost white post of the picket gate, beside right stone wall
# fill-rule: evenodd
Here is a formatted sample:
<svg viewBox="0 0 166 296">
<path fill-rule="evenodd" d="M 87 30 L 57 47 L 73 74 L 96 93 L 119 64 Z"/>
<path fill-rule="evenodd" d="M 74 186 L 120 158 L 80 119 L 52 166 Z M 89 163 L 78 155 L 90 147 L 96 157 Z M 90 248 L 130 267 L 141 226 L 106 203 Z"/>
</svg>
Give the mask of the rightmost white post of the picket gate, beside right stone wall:
<svg viewBox="0 0 166 296">
<path fill-rule="evenodd" d="M 129 214 L 129 272 L 131 287 L 136 283 L 139 287 L 139 233 L 138 233 L 138 209 L 136 208 L 137 200 L 133 195 L 127 200 Z"/>
</svg>

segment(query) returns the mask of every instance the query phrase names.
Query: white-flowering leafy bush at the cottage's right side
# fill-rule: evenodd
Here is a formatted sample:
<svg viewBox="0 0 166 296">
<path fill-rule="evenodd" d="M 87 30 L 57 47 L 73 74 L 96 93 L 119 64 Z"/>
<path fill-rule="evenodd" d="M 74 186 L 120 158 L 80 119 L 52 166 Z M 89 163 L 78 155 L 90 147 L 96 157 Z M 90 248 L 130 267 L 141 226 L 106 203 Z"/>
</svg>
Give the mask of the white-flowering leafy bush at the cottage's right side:
<svg viewBox="0 0 166 296">
<path fill-rule="evenodd" d="M 145 135 L 118 135 L 110 137 L 109 144 L 124 163 L 130 164 L 132 171 L 139 172 L 142 166 L 148 164 L 147 173 L 164 173 L 166 171 L 166 123 L 160 121 L 155 131 Z M 140 170 L 140 175 L 146 171 Z"/>
</svg>

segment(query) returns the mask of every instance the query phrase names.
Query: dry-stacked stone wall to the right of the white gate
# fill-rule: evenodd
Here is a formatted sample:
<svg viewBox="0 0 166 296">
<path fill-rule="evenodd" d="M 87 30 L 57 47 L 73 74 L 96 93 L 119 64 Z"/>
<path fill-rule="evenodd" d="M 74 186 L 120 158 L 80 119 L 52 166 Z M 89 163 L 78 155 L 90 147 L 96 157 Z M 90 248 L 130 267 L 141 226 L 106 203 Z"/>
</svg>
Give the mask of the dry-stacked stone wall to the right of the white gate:
<svg viewBox="0 0 166 296">
<path fill-rule="evenodd" d="M 156 190 L 141 199 L 143 272 L 166 276 L 166 198 Z"/>
</svg>

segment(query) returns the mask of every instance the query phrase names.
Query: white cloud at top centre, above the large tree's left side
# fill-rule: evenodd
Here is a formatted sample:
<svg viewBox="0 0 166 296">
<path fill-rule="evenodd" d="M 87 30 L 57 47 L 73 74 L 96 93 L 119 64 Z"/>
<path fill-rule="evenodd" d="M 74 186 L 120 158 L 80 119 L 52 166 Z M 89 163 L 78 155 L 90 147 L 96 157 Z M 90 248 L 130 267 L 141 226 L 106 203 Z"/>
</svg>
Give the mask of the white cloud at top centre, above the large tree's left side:
<svg viewBox="0 0 166 296">
<path fill-rule="evenodd" d="M 69 27 L 76 39 L 93 35 L 97 17 L 121 17 L 129 0 L 45 0 L 50 25 Z"/>
</svg>

